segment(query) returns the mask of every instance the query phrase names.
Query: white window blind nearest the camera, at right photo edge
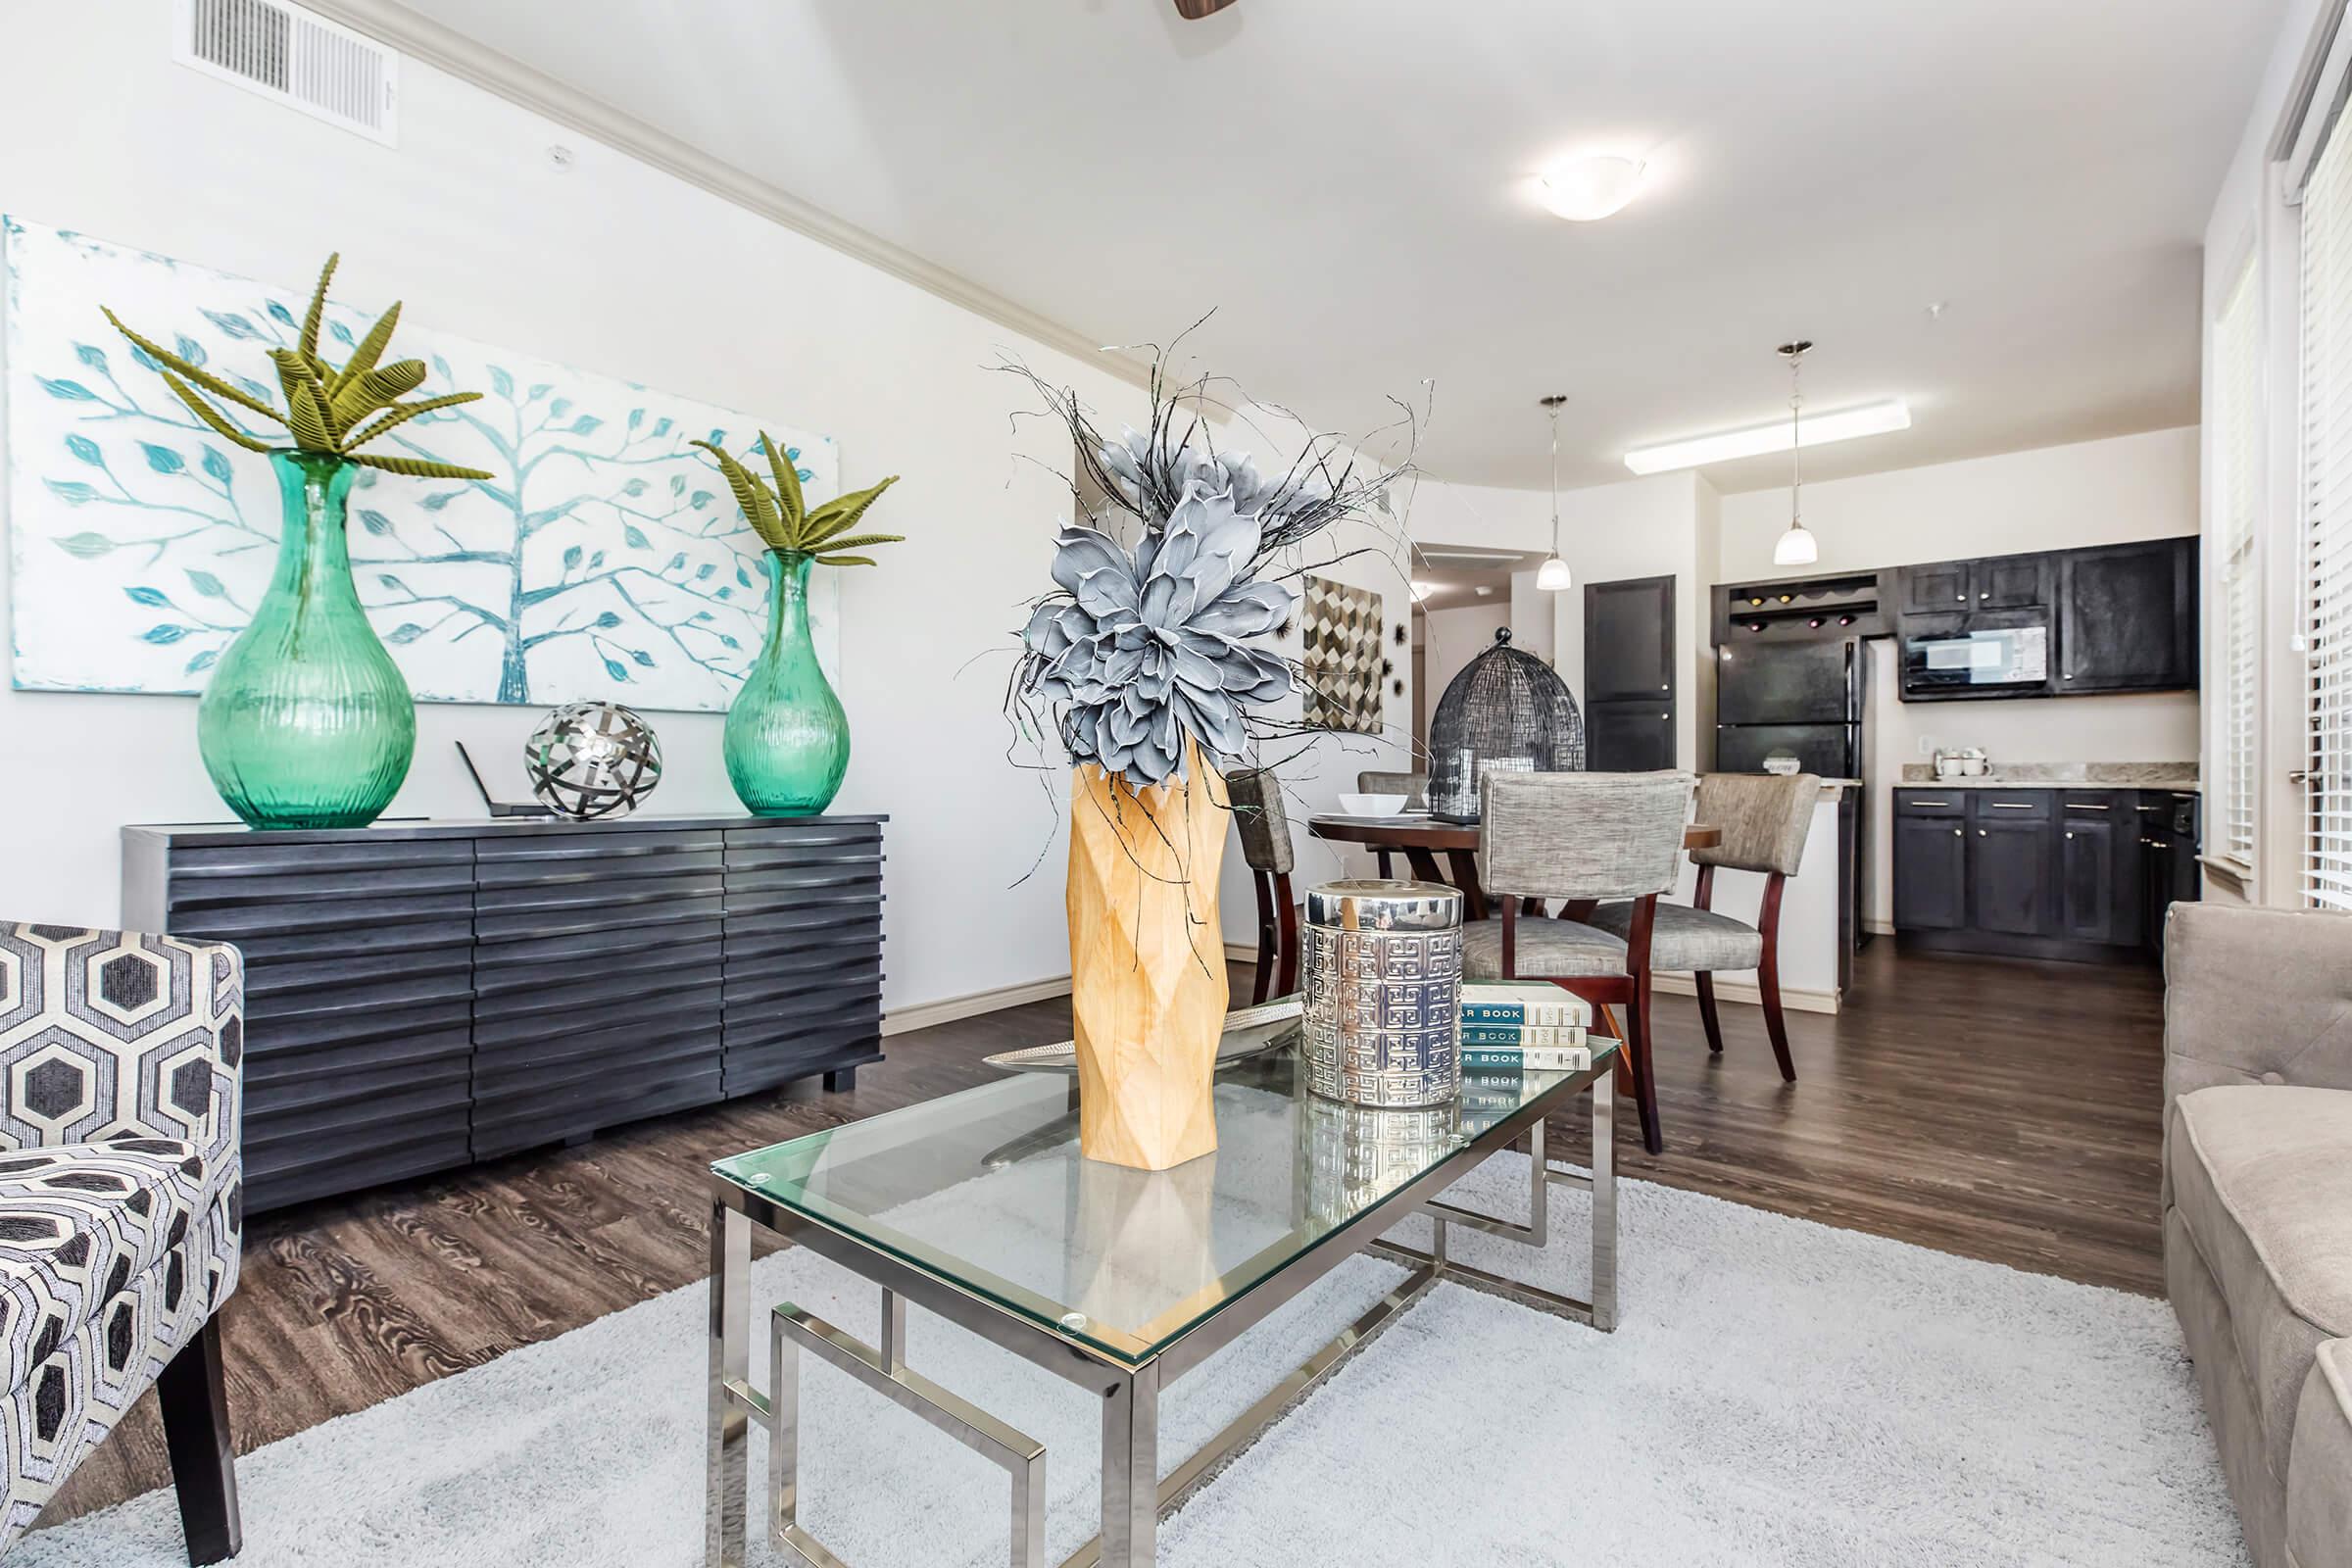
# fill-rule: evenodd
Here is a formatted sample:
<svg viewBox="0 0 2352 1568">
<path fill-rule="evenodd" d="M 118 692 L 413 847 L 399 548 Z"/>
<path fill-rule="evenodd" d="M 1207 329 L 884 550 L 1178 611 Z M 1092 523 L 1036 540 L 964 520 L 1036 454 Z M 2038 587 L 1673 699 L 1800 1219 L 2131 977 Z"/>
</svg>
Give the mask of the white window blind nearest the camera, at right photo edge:
<svg viewBox="0 0 2352 1568">
<path fill-rule="evenodd" d="M 2352 136 L 2303 197 L 2305 900 L 2352 910 Z"/>
</svg>

